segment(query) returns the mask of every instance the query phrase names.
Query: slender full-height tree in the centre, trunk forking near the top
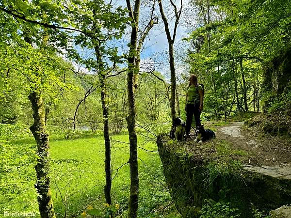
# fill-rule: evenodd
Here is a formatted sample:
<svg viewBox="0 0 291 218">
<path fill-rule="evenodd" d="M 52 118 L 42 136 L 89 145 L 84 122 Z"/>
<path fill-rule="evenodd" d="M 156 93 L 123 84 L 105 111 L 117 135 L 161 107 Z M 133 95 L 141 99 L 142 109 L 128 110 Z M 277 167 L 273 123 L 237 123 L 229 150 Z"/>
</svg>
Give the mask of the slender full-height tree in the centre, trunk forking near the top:
<svg viewBox="0 0 291 218">
<path fill-rule="evenodd" d="M 137 156 L 137 136 L 136 136 L 136 107 L 134 92 L 137 87 L 137 77 L 139 73 L 140 50 L 146 38 L 146 35 L 151 30 L 153 25 L 158 22 L 158 18 L 154 17 L 155 0 L 153 3 L 151 17 L 146 29 L 142 32 L 138 40 L 139 31 L 139 13 L 140 0 L 135 0 L 132 10 L 130 0 L 126 0 L 129 17 L 131 18 L 131 33 L 129 42 L 128 55 L 128 103 L 129 116 L 127 117 L 127 124 L 129 130 L 129 167 L 130 167 L 130 194 L 129 194 L 129 218 L 137 217 L 138 209 L 138 191 L 139 191 L 139 176 L 138 176 L 138 156 Z"/>
</svg>

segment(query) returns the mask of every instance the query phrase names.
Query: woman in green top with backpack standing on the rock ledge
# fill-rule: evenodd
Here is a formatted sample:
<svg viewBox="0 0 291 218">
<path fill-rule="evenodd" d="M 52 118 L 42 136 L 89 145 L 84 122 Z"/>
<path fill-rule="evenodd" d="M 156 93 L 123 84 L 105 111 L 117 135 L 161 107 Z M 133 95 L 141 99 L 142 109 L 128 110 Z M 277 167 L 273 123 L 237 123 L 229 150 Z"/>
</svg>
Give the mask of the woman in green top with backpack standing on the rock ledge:
<svg viewBox="0 0 291 218">
<path fill-rule="evenodd" d="M 201 125 L 200 114 L 203 109 L 203 88 L 198 84 L 197 76 L 194 74 L 190 75 L 189 84 L 186 88 L 186 132 L 185 137 L 189 137 L 191 130 L 191 123 L 193 119 L 195 119 L 195 125 Z"/>
</svg>

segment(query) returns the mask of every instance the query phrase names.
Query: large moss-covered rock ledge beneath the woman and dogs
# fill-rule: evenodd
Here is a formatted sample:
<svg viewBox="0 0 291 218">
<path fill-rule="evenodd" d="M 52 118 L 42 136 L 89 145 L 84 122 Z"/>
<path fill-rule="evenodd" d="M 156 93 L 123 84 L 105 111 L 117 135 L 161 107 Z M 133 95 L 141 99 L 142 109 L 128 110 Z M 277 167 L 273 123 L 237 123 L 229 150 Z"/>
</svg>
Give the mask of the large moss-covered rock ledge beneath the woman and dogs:
<svg viewBox="0 0 291 218">
<path fill-rule="evenodd" d="M 291 203 L 290 180 L 243 170 L 234 160 L 201 158 L 164 134 L 158 136 L 157 144 L 166 183 L 184 218 L 200 217 L 205 199 L 230 202 L 242 218 L 252 217 L 254 208 L 270 211 Z"/>
</svg>

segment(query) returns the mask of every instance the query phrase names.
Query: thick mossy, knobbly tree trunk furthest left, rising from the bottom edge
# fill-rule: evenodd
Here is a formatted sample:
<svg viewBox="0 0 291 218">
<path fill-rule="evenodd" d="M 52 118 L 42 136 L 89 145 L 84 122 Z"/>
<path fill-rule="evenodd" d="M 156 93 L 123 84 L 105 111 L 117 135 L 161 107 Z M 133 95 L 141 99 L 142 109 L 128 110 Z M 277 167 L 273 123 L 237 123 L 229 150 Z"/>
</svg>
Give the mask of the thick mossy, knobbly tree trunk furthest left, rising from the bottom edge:
<svg viewBox="0 0 291 218">
<path fill-rule="evenodd" d="M 46 131 L 45 107 L 41 93 L 32 92 L 28 96 L 32 103 L 33 125 L 30 130 L 37 144 L 37 163 L 35 165 L 38 208 L 41 218 L 55 218 L 49 187 L 49 134 Z"/>
</svg>

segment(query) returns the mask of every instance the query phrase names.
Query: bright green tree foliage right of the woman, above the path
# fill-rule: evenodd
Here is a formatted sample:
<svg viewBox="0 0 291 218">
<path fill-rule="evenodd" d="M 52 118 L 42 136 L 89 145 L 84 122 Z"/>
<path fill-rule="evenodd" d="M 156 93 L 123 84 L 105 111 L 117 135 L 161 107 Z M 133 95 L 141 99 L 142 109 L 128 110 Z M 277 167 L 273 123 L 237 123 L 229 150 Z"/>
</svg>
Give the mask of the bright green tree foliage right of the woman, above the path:
<svg viewBox="0 0 291 218">
<path fill-rule="evenodd" d="M 273 60 L 291 45 L 289 1 L 208 2 L 209 6 L 207 2 L 191 1 L 199 27 L 187 39 L 192 46 L 187 59 L 190 73 L 200 75 L 206 87 L 204 109 L 215 114 L 216 119 L 228 117 L 233 110 L 246 110 L 244 101 L 248 108 L 253 106 L 254 111 L 259 111 L 265 70 L 262 63 Z M 209 17 L 205 16 L 208 11 Z M 283 109 L 284 104 L 278 99 L 270 110 Z"/>
</svg>

